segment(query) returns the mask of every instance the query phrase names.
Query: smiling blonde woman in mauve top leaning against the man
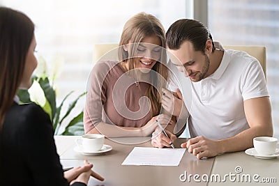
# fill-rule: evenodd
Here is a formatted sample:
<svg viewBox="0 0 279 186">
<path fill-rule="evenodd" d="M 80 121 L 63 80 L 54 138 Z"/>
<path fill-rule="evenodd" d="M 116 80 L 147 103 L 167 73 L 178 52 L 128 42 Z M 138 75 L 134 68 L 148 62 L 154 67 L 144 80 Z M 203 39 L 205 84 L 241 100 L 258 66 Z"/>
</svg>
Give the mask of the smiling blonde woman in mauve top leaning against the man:
<svg viewBox="0 0 279 186">
<path fill-rule="evenodd" d="M 156 119 L 173 131 L 174 122 L 160 114 L 161 91 L 168 77 L 165 65 L 165 30 L 160 21 L 146 13 L 131 17 L 119 42 L 119 61 L 100 61 L 91 72 L 85 132 L 146 137 L 156 130 Z"/>
</svg>

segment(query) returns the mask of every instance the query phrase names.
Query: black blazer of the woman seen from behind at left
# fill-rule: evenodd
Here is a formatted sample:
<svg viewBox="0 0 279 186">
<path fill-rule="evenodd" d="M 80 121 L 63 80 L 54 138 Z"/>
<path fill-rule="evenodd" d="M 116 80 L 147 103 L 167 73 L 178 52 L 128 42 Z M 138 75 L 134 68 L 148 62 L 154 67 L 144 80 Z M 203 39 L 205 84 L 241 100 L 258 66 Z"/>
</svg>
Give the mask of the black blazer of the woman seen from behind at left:
<svg viewBox="0 0 279 186">
<path fill-rule="evenodd" d="M 0 185 L 69 185 L 56 153 L 50 117 L 40 106 L 14 102 L 0 137 Z"/>
</svg>

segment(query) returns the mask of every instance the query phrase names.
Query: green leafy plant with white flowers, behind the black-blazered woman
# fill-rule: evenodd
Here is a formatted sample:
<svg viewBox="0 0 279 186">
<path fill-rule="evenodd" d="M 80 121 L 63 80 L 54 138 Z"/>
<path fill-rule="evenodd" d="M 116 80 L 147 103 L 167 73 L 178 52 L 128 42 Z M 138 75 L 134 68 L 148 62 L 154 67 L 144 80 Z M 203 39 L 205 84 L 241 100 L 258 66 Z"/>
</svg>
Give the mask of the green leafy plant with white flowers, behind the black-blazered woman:
<svg viewBox="0 0 279 186">
<path fill-rule="evenodd" d="M 63 57 L 56 55 L 54 57 L 53 70 L 51 75 L 48 75 L 47 65 L 45 59 L 42 56 L 38 57 L 38 67 L 35 75 L 32 77 L 32 85 L 28 90 L 19 90 L 17 96 L 20 99 L 20 104 L 35 102 L 44 109 L 44 111 L 50 116 L 50 120 L 53 124 L 54 134 L 59 134 L 59 129 L 65 118 L 69 117 L 69 114 L 75 108 L 77 101 L 85 95 L 82 93 L 75 98 L 68 105 L 66 113 L 61 116 L 61 109 L 64 102 L 73 93 L 70 91 L 57 105 L 56 102 L 56 91 L 54 88 L 54 80 L 59 76 L 61 72 L 61 66 L 63 66 Z M 84 134 L 83 127 L 83 111 L 80 111 L 77 116 L 70 118 L 70 122 L 66 125 L 65 130 L 61 133 L 62 135 L 82 135 Z"/>
</svg>

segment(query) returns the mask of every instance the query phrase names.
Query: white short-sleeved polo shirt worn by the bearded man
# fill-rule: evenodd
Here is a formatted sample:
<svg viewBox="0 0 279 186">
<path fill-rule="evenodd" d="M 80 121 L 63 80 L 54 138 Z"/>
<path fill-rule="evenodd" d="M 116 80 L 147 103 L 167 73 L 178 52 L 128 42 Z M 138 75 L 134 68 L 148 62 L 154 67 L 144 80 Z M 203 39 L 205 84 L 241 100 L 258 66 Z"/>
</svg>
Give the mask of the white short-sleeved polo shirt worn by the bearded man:
<svg viewBox="0 0 279 186">
<path fill-rule="evenodd" d="M 168 65 L 174 72 L 169 90 L 180 88 L 183 94 L 191 137 L 216 140 L 239 134 L 249 128 L 243 101 L 269 96 L 259 61 L 246 52 L 226 49 L 216 72 L 199 82 L 191 82 L 171 62 Z"/>
</svg>

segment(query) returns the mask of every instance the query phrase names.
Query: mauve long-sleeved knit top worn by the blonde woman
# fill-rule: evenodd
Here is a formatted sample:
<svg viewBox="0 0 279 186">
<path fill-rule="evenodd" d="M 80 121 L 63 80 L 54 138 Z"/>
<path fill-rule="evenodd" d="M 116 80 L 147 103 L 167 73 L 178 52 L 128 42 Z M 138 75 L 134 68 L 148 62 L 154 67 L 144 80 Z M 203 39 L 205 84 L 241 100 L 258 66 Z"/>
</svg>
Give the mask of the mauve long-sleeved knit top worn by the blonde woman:
<svg viewBox="0 0 279 186">
<path fill-rule="evenodd" d="M 84 130 L 100 122 L 122 127 L 142 127 L 151 119 L 146 82 L 136 82 L 118 61 L 100 61 L 87 82 Z"/>
</svg>

